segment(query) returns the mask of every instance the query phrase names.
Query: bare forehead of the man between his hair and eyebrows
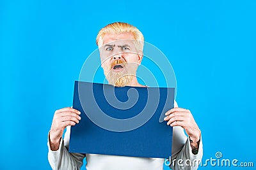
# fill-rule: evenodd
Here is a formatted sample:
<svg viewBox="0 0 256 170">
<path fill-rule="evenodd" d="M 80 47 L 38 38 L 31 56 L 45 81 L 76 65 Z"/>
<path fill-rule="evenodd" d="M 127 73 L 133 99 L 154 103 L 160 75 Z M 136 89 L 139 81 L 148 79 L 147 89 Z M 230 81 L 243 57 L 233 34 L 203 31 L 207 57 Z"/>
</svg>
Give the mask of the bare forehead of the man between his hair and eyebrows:
<svg viewBox="0 0 256 170">
<path fill-rule="evenodd" d="M 121 34 L 105 34 L 103 37 L 103 45 L 106 45 L 107 43 L 112 41 L 117 41 L 122 39 L 134 39 L 134 36 L 131 32 L 124 32 Z"/>
</svg>

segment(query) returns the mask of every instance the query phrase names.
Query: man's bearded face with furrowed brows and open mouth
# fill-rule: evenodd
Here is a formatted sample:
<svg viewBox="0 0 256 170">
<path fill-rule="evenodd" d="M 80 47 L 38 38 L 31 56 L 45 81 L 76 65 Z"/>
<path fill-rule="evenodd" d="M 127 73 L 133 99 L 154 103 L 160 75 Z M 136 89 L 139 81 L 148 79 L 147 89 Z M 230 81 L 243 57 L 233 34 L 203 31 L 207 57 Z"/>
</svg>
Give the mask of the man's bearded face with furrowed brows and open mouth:
<svg viewBox="0 0 256 170">
<path fill-rule="evenodd" d="M 100 50 L 101 66 L 109 84 L 124 87 L 136 79 L 142 52 L 131 32 L 106 34 Z"/>
</svg>

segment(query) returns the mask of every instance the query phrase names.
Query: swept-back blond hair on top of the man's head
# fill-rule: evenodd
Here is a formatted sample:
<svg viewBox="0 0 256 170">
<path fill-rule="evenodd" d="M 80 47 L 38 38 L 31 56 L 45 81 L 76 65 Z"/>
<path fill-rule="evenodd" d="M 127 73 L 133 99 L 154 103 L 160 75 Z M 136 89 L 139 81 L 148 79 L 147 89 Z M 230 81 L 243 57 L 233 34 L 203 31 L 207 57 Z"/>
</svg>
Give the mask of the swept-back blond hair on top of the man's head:
<svg viewBox="0 0 256 170">
<path fill-rule="evenodd" d="M 138 45 L 138 50 L 142 51 L 144 45 L 143 34 L 138 28 L 125 22 L 114 22 L 100 29 L 96 38 L 96 44 L 99 47 L 103 45 L 103 37 L 105 36 L 105 34 L 122 34 L 125 32 L 131 32 L 133 34 L 134 39 L 136 39 L 136 43 Z"/>
</svg>

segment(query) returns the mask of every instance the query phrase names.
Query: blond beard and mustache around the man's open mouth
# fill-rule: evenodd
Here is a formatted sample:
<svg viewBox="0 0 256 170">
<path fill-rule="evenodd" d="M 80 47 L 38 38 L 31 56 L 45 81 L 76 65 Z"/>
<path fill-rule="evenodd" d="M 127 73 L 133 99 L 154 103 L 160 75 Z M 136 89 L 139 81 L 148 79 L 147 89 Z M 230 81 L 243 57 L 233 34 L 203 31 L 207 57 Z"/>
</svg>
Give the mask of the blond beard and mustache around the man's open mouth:
<svg viewBox="0 0 256 170">
<path fill-rule="evenodd" d="M 119 72 L 112 71 L 111 69 L 115 64 L 123 64 L 124 70 Z M 129 72 L 130 73 L 127 71 L 127 63 L 120 60 L 113 62 L 108 69 L 104 68 L 104 74 L 108 80 L 108 83 L 117 87 L 125 87 L 132 81 L 134 76 L 136 76 L 136 69 L 132 68 Z"/>
</svg>

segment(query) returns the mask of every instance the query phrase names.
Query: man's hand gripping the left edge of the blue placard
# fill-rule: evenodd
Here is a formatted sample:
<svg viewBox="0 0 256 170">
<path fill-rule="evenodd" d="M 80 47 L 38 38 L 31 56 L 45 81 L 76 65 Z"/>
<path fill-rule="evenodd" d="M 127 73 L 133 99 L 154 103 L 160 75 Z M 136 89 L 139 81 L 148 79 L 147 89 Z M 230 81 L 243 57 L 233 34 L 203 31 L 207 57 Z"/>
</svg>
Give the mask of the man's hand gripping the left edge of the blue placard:
<svg viewBox="0 0 256 170">
<path fill-rule="evenodd" d="M 49 134 L 49 143 L 51 150 L 58 150 L 60 146 L 60 139 L 63 135 L 64 129 L 68 125 L 76 125 L 81 120 L 80 111 L 73 108 L 62 108 L 56 110 L 52 119 L 51 131 Z"/>
</svg>

